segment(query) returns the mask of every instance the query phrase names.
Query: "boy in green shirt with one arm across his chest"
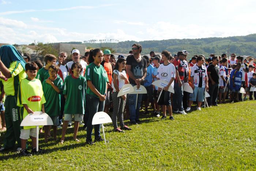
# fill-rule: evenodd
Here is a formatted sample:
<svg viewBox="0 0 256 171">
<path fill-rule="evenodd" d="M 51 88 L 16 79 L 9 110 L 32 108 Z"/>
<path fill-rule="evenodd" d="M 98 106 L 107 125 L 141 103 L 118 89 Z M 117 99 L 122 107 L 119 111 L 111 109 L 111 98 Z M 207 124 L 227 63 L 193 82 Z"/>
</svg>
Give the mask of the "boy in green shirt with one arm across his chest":
<svg viewBox="0 0 256 171">
<path fill-rule="evenodd" d="M 57 126 L 59 125 L 60 115 L 60 97 L 63 90 L 63 81 L 60 77 L 57 77 L 59 67 L 57 65 L 50 65 L 49 75 L 50 77 L 43 81 L 42 87 L 45 96 L 45 112 L 50 116 L 53 122 L 53 138 L 57 139 Z M 45 129 L 45 142 L 48 141 L 48 132 L 51 126 L 44 126 Z"/>
</svg>

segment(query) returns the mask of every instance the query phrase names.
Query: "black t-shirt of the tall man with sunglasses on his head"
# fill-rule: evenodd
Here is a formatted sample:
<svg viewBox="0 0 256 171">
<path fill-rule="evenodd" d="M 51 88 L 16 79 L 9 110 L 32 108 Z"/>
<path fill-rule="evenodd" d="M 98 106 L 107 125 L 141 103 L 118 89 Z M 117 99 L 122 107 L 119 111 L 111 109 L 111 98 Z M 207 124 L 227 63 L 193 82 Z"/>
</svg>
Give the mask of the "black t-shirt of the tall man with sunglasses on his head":
<svg viewBox="0 0 256 171">
<path fill-rule="evenodd" d="M 126 58 L 126 64 L 131 65 L 131 72 L 136 79 L 142 78 L 144 68 L 147 68 L 147 61 L 142 57 L 140 62 L 137 62 L 133 55 L 129 55 Z M 136 84 L 131 77 L 129 77 L 130 84 Z M 144 84 L 143 82 L 140 84 Z"/>
</svg>

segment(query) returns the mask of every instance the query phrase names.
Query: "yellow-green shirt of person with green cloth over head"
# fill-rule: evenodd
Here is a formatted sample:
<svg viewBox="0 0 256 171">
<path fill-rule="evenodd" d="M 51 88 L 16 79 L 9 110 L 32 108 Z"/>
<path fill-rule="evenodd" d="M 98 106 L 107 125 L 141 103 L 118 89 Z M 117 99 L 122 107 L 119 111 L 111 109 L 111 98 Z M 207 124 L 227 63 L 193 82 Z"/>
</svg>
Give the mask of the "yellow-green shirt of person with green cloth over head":
<svg viewBox="0 0 256 171">
<path fill-rule="evenodd" d="M 4 92 L 6 95 L 14 96 L 18 94 L 20 81 L 25 79 L 27 75 L 24 68 L 18 61 L 12 62 L 8 69 L 12 77 L 3 82 Z"/>
</svg>

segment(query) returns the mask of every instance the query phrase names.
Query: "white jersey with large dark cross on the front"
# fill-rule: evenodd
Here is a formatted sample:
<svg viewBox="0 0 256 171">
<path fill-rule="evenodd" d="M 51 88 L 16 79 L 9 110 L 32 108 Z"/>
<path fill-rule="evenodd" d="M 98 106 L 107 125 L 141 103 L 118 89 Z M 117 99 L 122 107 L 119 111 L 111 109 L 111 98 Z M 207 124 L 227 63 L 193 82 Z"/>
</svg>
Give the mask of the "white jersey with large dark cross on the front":
<svg viewBox="0 0 256 171">
<path fill-rule="evenodd" d="M 193 83 L 195 87 L 205 87 L 205 79 L 207 77 L 207 69 L 204 65 L 201 67 L 194 65 L 190 68 L 191 74 L 193 77 Z"/>
</svg>

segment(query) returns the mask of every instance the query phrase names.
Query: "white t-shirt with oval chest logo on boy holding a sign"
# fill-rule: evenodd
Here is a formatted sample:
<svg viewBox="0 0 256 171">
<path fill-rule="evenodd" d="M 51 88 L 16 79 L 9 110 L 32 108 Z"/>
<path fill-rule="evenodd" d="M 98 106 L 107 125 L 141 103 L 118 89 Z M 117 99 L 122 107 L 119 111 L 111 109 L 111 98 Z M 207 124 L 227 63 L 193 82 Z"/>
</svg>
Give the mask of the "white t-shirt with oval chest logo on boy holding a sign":
<svg viewBox="0 0 256 171">
<path fill-rule="evenodd" d="M 157 78 L 159 78 L 160 80 L 169 83 L 172 78 L 175 78 L 175 75 L 176 69 L 172 63 L 169 63 L 167 65 L 161 64 L 158 67 Z M 172 82 L 171 86 L 174 87 L 174 81 Z"/>
</svg>

